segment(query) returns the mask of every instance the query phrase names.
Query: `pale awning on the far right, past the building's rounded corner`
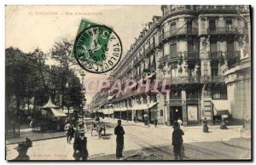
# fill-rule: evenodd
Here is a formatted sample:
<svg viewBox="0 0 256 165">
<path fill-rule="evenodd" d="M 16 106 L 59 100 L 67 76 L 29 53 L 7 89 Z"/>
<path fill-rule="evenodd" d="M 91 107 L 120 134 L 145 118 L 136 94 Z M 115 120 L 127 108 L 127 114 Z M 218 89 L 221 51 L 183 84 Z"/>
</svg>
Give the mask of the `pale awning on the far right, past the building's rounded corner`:
<svg viewBox="0 0 256 165">
<path fill-rule="evenodd" d="M 231 107 L 228 100 L 212 100 L 214 116 L 230 115 Z"/>
</svg>

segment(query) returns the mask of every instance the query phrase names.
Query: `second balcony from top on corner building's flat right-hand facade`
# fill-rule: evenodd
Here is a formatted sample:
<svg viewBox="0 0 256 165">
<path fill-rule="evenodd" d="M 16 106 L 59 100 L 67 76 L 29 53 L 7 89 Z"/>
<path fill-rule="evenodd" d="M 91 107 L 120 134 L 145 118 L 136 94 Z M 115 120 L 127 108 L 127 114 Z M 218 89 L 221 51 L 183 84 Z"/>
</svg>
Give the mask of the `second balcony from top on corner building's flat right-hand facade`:
<svg viewBox="0 0 256 165">
<path fill-rule="evenodd" d="M 207 34 L 209 35 L 227 35 L 227 34 L 239 34 L 239 31 L 236 27 L 216 27 L 216 28 L 207 28 Z"/>
</svg>

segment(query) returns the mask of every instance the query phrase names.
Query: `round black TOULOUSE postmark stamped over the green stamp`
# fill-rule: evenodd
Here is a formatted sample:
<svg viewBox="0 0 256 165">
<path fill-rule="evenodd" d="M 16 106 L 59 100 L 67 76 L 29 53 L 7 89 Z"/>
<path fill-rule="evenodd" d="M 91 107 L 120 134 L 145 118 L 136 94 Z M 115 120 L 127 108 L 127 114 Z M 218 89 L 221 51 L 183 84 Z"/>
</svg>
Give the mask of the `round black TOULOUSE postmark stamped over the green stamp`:
<svg viewBox="0 0 256 165">
<path fill-rule="evenodd" d="M 121 60 L 122 43 L 108 26 L 90 26 L 81 31 L 74 43 L 79 65 L 91 73 L 111 71 Z"/>
</svg>

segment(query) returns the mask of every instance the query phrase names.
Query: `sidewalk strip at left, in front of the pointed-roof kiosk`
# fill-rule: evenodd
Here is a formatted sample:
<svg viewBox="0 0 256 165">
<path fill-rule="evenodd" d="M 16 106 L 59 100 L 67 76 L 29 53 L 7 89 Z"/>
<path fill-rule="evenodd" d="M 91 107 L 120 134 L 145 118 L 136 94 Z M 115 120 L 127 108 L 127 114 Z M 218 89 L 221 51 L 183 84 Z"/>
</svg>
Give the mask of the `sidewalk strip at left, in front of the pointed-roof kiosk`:
<svg viewBox="0 0 256 165">
<path fill-rule="evenodd" d="M 26 141 L 26 138 L 32 141 L 38 141 L 43 139 L 55 139 L 65 137 L 65 132 L 32 132 L 31 128 L 20 129 L 20 137 L 6 139 L 6 145 L 17 144 L 22 141 Z"/>
</svg>

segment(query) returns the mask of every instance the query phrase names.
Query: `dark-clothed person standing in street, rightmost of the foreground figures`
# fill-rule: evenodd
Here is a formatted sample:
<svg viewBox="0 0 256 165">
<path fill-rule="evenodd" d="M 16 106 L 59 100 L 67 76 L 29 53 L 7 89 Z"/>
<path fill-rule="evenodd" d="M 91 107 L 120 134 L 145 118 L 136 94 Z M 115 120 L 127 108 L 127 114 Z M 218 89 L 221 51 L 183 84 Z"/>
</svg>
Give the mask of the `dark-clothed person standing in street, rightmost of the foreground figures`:
<svg viewBox="0 0 256 165">
<path fill-rule="evenodd" d="M 178 123 L 173 123 L 173 132 L 172 132 L 172 145 L 173 153 L 175 160 L 183 160 L 183 130 L 178 127 Z"/>
</svg>

